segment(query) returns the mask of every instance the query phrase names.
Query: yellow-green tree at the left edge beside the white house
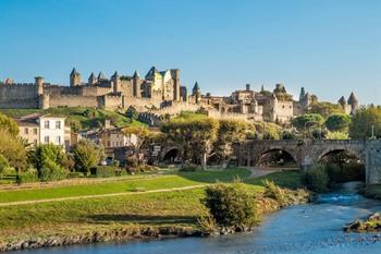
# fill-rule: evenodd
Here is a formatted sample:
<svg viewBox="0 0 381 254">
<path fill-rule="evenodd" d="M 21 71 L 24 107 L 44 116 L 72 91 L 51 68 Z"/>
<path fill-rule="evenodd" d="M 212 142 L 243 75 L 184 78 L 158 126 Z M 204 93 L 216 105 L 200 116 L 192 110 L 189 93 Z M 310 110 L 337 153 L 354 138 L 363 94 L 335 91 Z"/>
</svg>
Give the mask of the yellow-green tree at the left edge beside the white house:
<svg viewBox="0 0 381 254">
<path fill-rule="evenodd" d="M 23 142 L 5 129 L 0 129 L 0 154 L 17 172 L 26 168 L 26 150 Z"/>
</svg>

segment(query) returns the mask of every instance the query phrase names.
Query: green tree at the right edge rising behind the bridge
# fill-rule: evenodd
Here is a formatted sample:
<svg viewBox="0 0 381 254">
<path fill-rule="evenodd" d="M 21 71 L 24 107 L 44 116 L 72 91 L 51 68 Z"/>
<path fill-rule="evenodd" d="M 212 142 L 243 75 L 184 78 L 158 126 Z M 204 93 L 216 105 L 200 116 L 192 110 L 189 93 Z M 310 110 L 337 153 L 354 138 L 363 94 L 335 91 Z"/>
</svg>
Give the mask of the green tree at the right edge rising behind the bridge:
<svg viewBox="0 0 381 254">
<path fill-rule="evenodd" d="M 381 138 L 381 108 L 360 108 L 352 117 L 349 136 L 353 140 Z"/>
</svg>

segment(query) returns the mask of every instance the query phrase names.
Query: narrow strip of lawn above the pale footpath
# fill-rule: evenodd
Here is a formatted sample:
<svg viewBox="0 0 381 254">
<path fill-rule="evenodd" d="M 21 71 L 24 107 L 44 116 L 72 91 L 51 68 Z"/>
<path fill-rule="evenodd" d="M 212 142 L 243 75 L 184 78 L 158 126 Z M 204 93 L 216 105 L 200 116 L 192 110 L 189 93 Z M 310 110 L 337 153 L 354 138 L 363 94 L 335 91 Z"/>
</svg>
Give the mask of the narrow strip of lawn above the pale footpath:
<svg viewBox="0 0 381 254">
<path fill-rule="evenodd" d="M 156 178 L 132 178 L 112 182 L 87 183 L 79 185 L 64 185 L 56 188 L 0 191 L 0 203 L 17 201 L 36 201 L 70 196 L 100 195 L 110 193 L 124 193 L 162 190 L 170 188 L 183 188 L 213 183 L 216 181 L 226 182 L 234 178 L 247 178 L 250 172 L 246 169 L 230 169 L 225 171 L 200 171 L 179 172 L 174 176 L 160 176 Z"/>
</svg>

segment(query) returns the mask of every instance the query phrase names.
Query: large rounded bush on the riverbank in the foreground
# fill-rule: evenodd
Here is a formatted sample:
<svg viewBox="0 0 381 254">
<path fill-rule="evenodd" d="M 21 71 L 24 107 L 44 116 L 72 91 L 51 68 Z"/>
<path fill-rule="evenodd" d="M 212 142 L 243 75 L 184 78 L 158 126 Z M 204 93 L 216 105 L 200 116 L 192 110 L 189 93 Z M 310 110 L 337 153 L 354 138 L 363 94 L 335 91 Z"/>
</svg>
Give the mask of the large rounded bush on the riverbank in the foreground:
<svg viewBox="0 0 381 254">
<path fill-rule="evenodd" d="M 255 196 L 241 182 L 208 186 L 202 202 L 220 227 L 251 228 L 259 218 Z"/>
</svg>

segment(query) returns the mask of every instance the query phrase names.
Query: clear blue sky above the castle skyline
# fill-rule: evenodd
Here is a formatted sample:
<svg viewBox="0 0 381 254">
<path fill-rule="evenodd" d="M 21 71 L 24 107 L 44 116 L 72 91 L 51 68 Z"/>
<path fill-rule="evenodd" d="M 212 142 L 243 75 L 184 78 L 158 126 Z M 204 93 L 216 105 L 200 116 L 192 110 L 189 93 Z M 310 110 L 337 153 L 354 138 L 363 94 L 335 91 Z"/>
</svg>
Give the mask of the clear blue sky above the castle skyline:
<svg viewBox="0 0 381 254">
<path fill-rule="evenodd" d="M 212 95 L 282 83 L 381 105 L 380 0 L 0 0 L 0 80 L 155 65 Z"/>
</svg>

